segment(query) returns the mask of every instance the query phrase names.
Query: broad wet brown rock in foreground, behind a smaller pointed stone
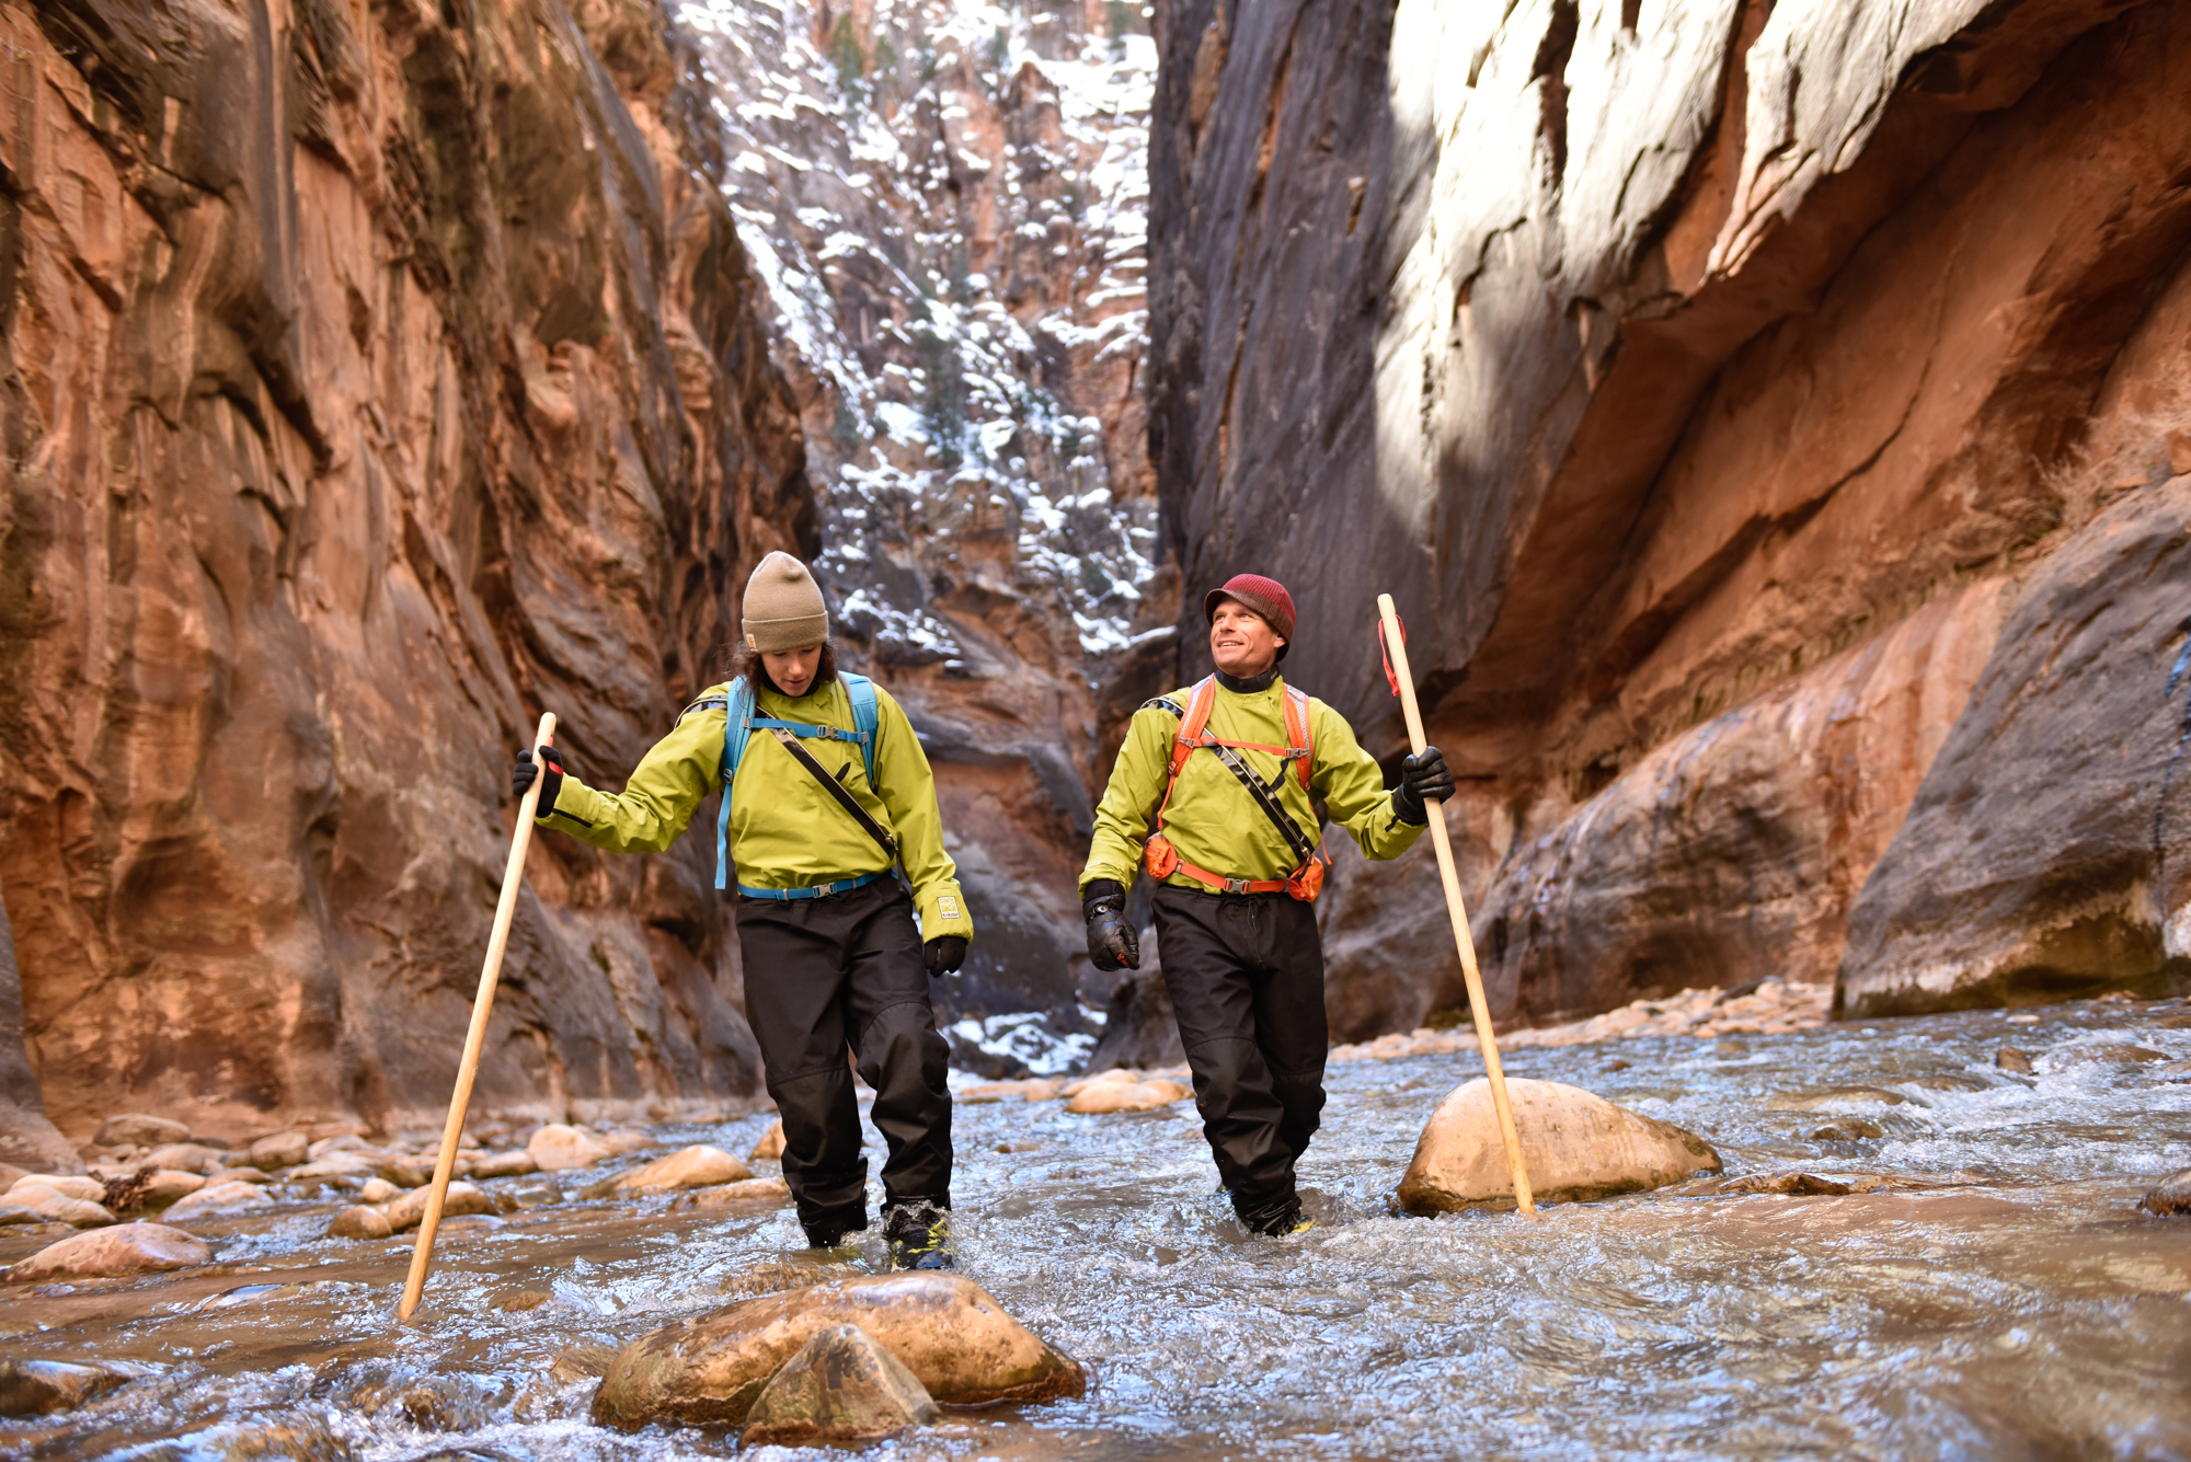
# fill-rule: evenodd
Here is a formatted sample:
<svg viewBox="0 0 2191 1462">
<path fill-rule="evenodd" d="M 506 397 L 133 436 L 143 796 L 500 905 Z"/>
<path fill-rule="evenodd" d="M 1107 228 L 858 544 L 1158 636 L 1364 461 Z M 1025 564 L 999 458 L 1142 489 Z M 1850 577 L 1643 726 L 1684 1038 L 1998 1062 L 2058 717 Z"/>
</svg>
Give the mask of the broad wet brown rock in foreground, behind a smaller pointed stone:
<svg viewBox="0 0 2191 1462">
<path fill-rule="evenodd" d="M 769 1377 L 833 1324 L 857 1324 L 879 1339 L 944 1405 L 1087 1390 L 1078 1361 L 1028 1333 L 973 1280 L 881 1274 L 747 1300 L 642 1335 L 609 1368 L 594 1420 L 736 1425 Z"/>
</svg>

